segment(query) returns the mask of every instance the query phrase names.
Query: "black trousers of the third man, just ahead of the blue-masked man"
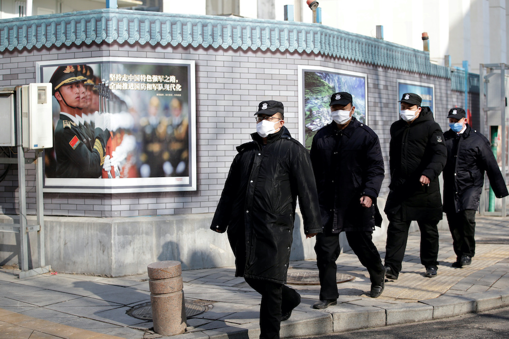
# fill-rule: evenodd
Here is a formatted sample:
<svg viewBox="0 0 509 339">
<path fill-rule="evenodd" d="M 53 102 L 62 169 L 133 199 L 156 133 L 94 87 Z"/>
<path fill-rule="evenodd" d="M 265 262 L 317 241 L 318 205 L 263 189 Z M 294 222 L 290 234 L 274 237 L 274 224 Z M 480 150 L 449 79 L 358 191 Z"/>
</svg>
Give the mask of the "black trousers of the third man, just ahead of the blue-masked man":
<svg viewBox="0 0 509 339">
<path fill-rule="evenodd" d="M 387 228 L 385 266 L 390 267 L 396 276 L 401 271 L 405 256 L 410 223 L 411 220 L 402 220 L 401 214 L 396 213 Z M 420 263 L 426 267 L 438 268 L 438 220 L 420 220 L 417 224 L 420 229 Z"/>
</svg>

